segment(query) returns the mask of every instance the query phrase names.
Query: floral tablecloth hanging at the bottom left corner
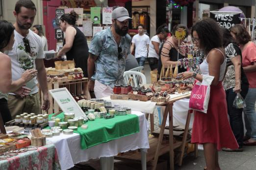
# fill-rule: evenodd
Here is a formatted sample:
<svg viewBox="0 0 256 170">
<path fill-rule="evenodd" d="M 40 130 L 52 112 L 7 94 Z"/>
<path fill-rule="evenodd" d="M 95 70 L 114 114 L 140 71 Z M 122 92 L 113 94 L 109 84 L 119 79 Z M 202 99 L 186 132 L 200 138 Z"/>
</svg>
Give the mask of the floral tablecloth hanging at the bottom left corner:
<svg viewBox="0 0 256 170">
<path fill-rule="evenodd" d="M 0 161 L 0 170 L 60 170 L 54 145 L 38 147 Z"/>
</svg>

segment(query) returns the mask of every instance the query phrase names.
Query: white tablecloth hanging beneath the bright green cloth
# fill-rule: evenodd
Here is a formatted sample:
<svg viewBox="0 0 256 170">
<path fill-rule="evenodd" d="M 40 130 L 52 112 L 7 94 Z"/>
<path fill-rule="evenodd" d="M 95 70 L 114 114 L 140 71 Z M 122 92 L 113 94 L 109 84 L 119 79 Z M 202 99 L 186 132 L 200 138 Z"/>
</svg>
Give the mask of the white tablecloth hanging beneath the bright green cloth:
<svg viewBox="0 0 256 170">
<path fill-rule="evenodd" d="M 57 149 L 62 170 L 74 167 L 74 164 L 85 162 L 89 159 L 115 156 L 119 152 L 135 149 L 149 149 L 148 122 L 145 115 L 139 111 L 132 111 L 139 117 L 140 132 L 116 140 L 102 143 L 88 149 L 80 148 L 80 136 L 61 134 L 47 138 L 47 143 L 53 143 Z"/>
</svg>

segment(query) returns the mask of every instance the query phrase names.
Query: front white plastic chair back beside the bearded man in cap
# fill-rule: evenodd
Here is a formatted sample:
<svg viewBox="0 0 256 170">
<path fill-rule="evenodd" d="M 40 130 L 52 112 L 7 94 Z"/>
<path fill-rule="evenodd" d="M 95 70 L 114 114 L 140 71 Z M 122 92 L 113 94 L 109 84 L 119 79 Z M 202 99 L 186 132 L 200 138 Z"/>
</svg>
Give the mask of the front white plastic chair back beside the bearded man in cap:
<svg viewBox="0 0 256 170">
<path fill-rule="evenodd" d="M 139 86 L 138 80 L 140 78 L 141 78 L 141 81 L 142 81 L 141 82 L 142 85 L 147 84 L 146 76 L 144 74 L 142 74 L 141 72 L 138 72 L 138 71 L 125 71 L 124 78 L 125 78 L 125 81 L 126 81 L 127 84 L 129 82 L 129 78 L 131 78 L 131 77 L 133 79 L 133 84 L 134 84 L 133 87 Z"/>
</svg>

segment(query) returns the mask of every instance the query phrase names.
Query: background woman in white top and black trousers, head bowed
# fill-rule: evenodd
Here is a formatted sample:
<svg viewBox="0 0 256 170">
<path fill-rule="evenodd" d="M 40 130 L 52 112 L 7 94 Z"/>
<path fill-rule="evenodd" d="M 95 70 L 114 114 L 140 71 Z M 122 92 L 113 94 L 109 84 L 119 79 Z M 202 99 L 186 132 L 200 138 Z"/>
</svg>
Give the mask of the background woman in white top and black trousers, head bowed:
<svg viewBox="0 0 256 170">
<path fill-rule="evenodd" d="M 159 59 L 159 46 L 163 40 L 166 39 L 169 30 L 166 25 L 161 25 L 157 28 L 155 36 L 153 36 L 149 43 L 148 61 L 151 70 L 156 70 Z"/>
</svg>

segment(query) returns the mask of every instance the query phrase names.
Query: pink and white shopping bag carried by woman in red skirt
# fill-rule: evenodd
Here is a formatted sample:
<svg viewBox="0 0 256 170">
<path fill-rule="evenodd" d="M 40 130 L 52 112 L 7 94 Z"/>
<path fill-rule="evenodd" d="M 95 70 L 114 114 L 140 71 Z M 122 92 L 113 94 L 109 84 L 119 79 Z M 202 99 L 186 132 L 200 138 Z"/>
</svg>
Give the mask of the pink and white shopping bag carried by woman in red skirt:
<svg viewBox="0 0 256 170">
<path fill-rule="evenodd" d="M 210 85 L 213 76 L 203 75 L 202 83 L 197 81 L 191 91 L 189 100 L 189 108 L 207 113 L 208 103 L 210 99 Z"/>
</svg>

